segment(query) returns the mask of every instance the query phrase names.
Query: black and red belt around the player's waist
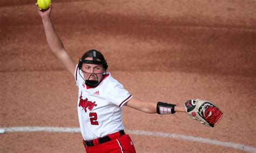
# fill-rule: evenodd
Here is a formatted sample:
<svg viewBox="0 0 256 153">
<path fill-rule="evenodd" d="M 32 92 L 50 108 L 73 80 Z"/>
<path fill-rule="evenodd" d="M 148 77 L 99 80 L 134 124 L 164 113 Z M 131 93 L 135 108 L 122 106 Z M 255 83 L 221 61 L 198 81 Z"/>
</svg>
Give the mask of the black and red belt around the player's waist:
<svg viewBox="0 0 256 153">
<path fill-rule="evenodd" d="M 85 147 L 92 147 L 95 145 L 99 145 L 99 144 L 111 141 L 115 138 L 118 138 L 118 137 L 124 135 L 124 134 L 125 134 L 124 130 L 120 130 L 116 133 L 109 134 L 109 135 L 101 137 L 101 138 L 96 138 L 94 140 L 88 140 L 88 141 L 83 140 L 83 143 L 84 143 Z"/>
</svg>

